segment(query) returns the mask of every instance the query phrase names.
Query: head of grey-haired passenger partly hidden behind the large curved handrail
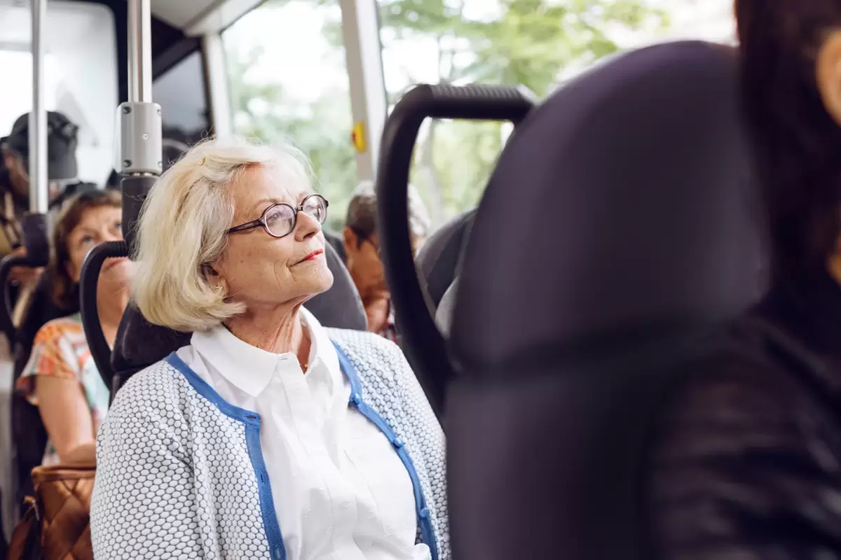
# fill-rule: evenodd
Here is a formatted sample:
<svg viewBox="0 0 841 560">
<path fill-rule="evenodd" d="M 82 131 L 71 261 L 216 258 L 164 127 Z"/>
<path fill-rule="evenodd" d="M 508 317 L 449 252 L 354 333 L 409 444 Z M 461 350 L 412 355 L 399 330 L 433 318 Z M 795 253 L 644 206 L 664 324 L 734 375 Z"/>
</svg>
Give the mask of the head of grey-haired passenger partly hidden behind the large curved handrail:
<svg viewBox="0 0 841 560">
<path fill-rule="evenodd" d="M 430 219 L 417 190 L 409 188 L 409 228 L 412 248 L 417 250 L 429 233 Z M 371 181 L 363 181 L 353 192 L 347 207 L 343 233 L 347 269 L 362 297 L 388 292 L 379 254 L 377 194 Z"/>
</svg>

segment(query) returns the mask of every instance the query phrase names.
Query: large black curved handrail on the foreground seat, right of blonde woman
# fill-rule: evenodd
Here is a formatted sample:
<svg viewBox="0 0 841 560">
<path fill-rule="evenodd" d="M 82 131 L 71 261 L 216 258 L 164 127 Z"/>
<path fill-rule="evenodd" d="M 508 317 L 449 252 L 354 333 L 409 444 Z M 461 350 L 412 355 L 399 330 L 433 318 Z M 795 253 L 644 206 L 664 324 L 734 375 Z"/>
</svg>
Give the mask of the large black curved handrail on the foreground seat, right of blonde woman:
<svg viewBox="0 0 841 560">
<path fill-rule="evenodd" d="M 454 370 L 432 316 L 433 308 L 418 280 L 412 256 L 408 191 L 412 151 L 426 118 L 521 123 L 534 107 L 526 88 L 512 86 L 420 85 L 400 99 L 383 128 L 377 174 L 377 205 L 383 265 L 400 317 L 401 335 L 420 371 L 421 385 L 436 415 L 442 417 L 447 382 Z"/>
</svg>

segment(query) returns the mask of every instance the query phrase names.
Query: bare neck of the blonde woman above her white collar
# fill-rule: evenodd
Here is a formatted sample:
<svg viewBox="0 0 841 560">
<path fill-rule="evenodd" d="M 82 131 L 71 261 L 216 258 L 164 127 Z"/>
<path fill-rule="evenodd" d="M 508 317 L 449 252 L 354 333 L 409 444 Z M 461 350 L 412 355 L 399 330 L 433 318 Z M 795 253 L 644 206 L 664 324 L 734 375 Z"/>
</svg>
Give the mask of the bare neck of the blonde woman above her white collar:
<svg viewBox="0 0 841 560">
<path fill-rule="evenodd" d="M 236 338 L 271 353 L 294 353 L 301 364 L 309 359 L 309 334 L 301 324 L 302 304 L 253 309 L 225 325 Z"/>
</svg>

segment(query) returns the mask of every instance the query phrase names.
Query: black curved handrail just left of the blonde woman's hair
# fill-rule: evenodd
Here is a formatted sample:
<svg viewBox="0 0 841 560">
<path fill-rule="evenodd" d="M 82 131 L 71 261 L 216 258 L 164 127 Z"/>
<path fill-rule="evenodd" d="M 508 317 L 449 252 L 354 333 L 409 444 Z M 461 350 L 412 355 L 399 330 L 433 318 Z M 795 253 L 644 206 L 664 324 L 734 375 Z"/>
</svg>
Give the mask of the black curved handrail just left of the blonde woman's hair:
<svg viewBox="0 0 841 560">
<path fill-rule="evenodd" d="M 82 327 L 85 331 L 87 347 L 91 349 L 93 362 L 97 364 L 99 374 L 108 388 L 111 387 L 111 380 L 114 379 L 114 368 L 111 366 L 111 346 L 105 339 L 103 327 L 99 322 L 97 284 L 99 271 L 102 270 L 105 259 L 128 255 L 129 248 L 124 241 L 99 243 L 87 254 L 79 278 L 79 306 L 82 311 Z"/>
</svg>

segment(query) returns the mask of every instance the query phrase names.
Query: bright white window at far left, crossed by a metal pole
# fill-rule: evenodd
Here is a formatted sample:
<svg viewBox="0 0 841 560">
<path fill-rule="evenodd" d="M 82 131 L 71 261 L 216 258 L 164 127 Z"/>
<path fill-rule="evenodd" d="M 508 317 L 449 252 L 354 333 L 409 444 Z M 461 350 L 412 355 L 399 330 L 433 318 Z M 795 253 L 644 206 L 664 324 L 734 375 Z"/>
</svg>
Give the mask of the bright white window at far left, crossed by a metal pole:
<svg viewBox="0 0 841 560">
<path fill-rule="evenodd" d="M 0 4 L 0 21 L 2 136 L 32 108 L 29 3 Z M 114 13 L 93 3 L 50 2 L 46 28 L 46 108 L 79 126 L 79 178 L 102 183 L 113 165 L 118 105 Z"/>
</svg>

